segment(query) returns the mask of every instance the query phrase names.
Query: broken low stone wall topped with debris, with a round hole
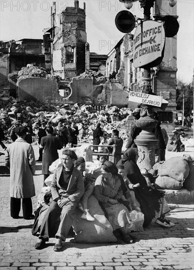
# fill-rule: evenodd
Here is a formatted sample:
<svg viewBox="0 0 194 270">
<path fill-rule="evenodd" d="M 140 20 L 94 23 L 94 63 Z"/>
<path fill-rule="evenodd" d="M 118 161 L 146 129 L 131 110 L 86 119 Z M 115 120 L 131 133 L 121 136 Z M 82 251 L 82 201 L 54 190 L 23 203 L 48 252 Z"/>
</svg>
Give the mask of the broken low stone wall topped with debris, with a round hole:
<svg viewBox="0 0 194 270">
<path fill-rule="evenodd" d="M 31 66 L 19 72 L 18 96 L 21 99 L 53 104 L 127 106 L 128 92 L 121 83 L 109 81 L 99 72 L 87 71 L 71 81 L 47 74 Z"/>
</svg>

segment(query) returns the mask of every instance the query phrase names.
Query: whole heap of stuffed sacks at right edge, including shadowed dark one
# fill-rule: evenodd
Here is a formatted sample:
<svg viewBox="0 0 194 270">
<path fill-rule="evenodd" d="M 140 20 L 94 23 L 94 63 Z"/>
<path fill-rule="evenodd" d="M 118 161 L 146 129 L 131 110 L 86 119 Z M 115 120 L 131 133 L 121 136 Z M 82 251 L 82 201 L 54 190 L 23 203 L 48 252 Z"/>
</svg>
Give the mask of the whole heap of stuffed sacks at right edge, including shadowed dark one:
<svg viewBox="0 0 194 270">
<path fill-rule="evenodd" d="M 194 160 L 190 155 L 173 157 L 153 166 L 158 170 L 155 184 L 162 189 L 194 190 Z"/>
</svg>

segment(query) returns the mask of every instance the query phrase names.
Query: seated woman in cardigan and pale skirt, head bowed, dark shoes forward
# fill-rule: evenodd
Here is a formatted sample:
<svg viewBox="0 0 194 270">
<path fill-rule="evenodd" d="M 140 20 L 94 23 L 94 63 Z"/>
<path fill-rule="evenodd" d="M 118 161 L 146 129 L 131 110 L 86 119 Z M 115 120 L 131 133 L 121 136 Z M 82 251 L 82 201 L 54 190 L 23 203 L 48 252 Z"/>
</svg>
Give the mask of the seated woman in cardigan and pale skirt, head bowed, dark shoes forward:
<svg viewBox="0 0 194 270">
<path fill-rule="evenodd" d="M 120 229 L 124 242 L 133 243 L 126 230 L 126 225 L 131 224 L 129 211 L 120 203 L 120 200 L 126 201 L 126 198 L 121 189 L 117 166 L 106 161 L 101 165 L 101 173 L 95 182 L 94 195 L 105 209 L 113 230 Z"/>
</svg>

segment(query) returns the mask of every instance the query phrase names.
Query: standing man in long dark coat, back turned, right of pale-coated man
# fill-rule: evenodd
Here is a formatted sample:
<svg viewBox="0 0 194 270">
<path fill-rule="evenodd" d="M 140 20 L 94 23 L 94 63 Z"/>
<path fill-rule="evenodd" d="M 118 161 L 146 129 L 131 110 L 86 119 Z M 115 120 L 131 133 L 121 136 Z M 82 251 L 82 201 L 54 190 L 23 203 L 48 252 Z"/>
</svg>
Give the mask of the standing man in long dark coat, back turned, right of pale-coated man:
<svg viewBox="0 0 194 270">
<path fill-rule="evenodd" d="M 57 149 L 60 150 L 62 148 L 60 139 L 52 135 L 53 128 L 47 127 L 46 132 L 47 136 L 42 137 L 41 143 L 39 145 L 39 148 L 44 149 L 42 164 L 42 174 L 44 174 L 43 187 L 46 186 L 45 179 L 47 179 L 47 177 L 49 177 L 49 174 L 51 174 L 51 172 L 49 171 L 49 166 L 52 164 L 52 162 L 56 161 L 59 158 Z"/>
</svg>

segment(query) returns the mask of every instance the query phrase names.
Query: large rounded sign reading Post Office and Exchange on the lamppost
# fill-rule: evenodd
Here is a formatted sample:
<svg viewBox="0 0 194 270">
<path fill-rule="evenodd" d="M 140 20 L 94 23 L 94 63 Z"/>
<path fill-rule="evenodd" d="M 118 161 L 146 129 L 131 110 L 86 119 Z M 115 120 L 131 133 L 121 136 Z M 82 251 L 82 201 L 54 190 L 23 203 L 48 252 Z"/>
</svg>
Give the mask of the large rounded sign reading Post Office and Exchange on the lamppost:
<svg viewBox="0 0 194 270">
<path fill-rule="evenodd" d="M 159 65 L 162 61 L 165 46 L 165 29 L 163 23 L 145 21 L 135 31 L 133 39 L 134 67 Z"/>
</svg>

